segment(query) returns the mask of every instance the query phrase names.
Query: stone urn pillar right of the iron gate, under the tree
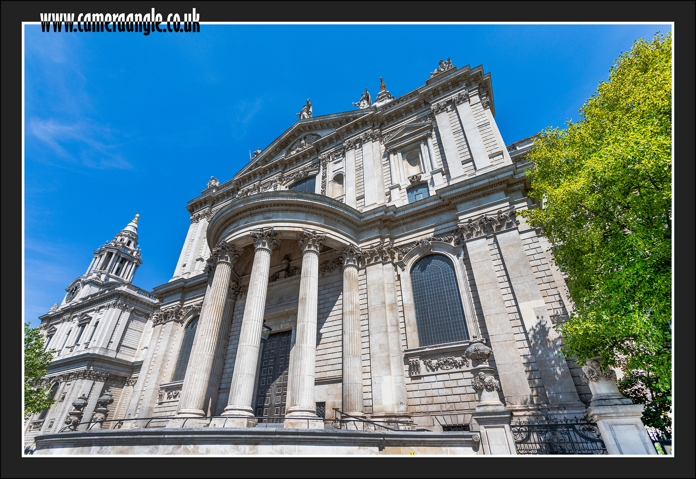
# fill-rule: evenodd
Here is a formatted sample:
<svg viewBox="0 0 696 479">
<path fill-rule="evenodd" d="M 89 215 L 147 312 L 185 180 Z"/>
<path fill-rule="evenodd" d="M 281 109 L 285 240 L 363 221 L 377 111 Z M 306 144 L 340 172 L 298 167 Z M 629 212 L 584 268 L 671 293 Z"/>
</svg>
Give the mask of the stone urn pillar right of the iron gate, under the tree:
<svg viewBox="0 0 696 479">
<path fill-rule="evenodd" d="M 587 360 L 583 382 L 590 386 L 592 400 L 587 408 L 590 421 L 597 424 L 609 454 L 657 454 L 640 417 L 644 405 L 634 405 L 619 392 L 614 370 L 603 370 L 601 358 Z"/>
</svg>

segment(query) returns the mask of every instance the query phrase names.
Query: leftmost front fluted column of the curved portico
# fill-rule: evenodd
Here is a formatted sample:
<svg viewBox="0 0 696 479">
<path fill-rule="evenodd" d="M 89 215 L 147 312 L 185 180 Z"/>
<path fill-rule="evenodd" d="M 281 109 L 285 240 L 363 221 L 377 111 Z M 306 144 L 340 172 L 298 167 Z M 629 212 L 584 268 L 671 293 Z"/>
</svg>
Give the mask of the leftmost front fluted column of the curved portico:
<svg viewBox="0 0 696 479">
<path fill-rule="evenodd" d="M 191 348 L 191 359 L 184 377 L 177 416 L 205 416 L 205 395 L 210 373 L 220 340 L 220 327 L 228 296 L 232 265 L 242 254 L 234 244 L 221 242 L 212 251 L 216 263 L 212 285 L 205 301 L 205 310 L 200 315 L 196 340 Z M 187 425 L 191 421 L 187 421 Z"/>
</svg>

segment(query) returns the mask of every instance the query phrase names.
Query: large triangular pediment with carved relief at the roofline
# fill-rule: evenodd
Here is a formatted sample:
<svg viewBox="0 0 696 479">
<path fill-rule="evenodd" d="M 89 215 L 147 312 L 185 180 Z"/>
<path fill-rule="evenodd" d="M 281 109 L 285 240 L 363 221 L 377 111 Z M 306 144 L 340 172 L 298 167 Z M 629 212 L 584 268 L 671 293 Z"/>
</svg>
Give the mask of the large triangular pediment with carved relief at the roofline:
<svg viewBox="0 0 696 479">
<path fill-rule="evenodd" d="M 273 143 L 258 152 L 233 179 L 244 176 L 260 166 L 269 166 L 280 159 L 285 161 L 301 152 L 316 148 L 315 141 L 330 136 L 343 125 L 370 113 L 372 110 L 362 109 L 297 120 Z"/>
</svg>

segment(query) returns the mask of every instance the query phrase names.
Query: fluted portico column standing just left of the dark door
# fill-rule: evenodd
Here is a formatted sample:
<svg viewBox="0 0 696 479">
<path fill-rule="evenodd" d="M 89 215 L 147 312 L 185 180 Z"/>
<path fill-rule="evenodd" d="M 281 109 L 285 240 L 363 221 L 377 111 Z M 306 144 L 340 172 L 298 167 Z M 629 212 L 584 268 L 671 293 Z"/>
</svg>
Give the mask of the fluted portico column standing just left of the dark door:
<svg viewBox="0 0 696 479">
<path fill-rule="evenodd" d="M 254 395 L 254 383 L 258 366 L 261 343 L 263 315 L 266 308 L 268 292 L 268 273 L 271 266 L 271 253 L 278 244 L 273 228 L 261 228 L 251 233 L 254 239 L 255 253 L 251 267 L 251 278 L 246 293 L 246 305 L 242 316 L 242 329 L 239 331 L 235 370 L 232 372 L 230 398 L 222 416 L 247 416 L 244 418 L 216 419 L 211 427 L 254 427 L 256 421 L 251 402 Z"/>
</svg>

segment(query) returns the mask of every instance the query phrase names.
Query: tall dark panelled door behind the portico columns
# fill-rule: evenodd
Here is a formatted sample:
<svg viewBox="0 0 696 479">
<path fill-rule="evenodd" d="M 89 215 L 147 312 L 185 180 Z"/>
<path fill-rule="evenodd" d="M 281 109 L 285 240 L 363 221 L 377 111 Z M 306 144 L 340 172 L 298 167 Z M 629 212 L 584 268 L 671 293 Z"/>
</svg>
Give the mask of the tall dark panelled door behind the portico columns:
<svg viewBox="0 0 696 479">
<path fill-rule="evenodd" d="M 256 416 L 282 418 L 287 400 L 287 366 L 290 362 L 292 331 L 271 334 L 261 354 Z M 269 420 L 269 423 L 272 423 Z"/>
</svg>

